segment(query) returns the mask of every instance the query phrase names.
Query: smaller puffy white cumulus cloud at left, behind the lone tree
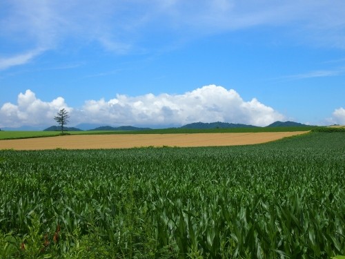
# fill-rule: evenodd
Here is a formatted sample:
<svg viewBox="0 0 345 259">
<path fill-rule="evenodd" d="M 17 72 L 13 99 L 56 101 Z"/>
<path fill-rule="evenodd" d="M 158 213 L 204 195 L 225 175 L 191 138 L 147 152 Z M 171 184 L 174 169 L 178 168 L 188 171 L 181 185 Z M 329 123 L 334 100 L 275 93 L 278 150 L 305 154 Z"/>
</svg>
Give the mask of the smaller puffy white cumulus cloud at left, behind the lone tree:
<svg viewBox="0 0 345 259">
<path fill-rule="evenodd" d="M 1 127 L 39 126 L 52 124 L 52 119 L 61 108 L 72 111 L 62 97 L 51 102 L 37 99 L 32 90 L 19 93 L 17 104 L 6 103 L 0 108 Z"/>
</svg>

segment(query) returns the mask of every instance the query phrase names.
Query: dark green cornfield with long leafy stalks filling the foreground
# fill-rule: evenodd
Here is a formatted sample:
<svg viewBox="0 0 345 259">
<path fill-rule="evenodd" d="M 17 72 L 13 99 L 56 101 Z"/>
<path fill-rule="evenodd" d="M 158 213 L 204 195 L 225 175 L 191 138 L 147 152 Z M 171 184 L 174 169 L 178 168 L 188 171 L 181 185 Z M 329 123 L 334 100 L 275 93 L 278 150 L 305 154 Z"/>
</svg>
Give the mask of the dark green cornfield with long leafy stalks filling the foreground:
<svg viewBox="0 0 345 259">
<path fill-rule="evenodd" d="M 0 151 L 0 258 L 345 255 L 345 133 Z"/>
</svg>

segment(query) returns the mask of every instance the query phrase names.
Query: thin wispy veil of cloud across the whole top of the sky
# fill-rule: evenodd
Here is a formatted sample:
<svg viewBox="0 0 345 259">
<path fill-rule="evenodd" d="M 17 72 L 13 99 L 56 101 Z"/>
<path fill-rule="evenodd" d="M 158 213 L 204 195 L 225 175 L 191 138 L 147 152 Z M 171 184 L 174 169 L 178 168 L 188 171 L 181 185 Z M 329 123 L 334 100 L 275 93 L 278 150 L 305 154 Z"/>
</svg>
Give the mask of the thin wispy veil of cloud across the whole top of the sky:
<svg viewBox="0 0 345 259">
<path fill-rule="evenodd" d="M 157 49 L 175 44 L 159 42 L 170 35 L 178 42 L 181 35 L 202 37 L 255 26 L 284 26 L 296 41 L 345 48 L 344 1 L 3 0 L 1 8 L 6 12 L 0 12 L 0 40 L 32 49 L 51 50 L 75 41 L 124 55 L 150 48 L 147 37 L 155 37 L 151 48 Z M 19 47 L 11 52 L 17 54 L 3 59 L 2 69 L 26 64 L 42 53 L 21 54 L 25 51 Z"/>
</svg>

